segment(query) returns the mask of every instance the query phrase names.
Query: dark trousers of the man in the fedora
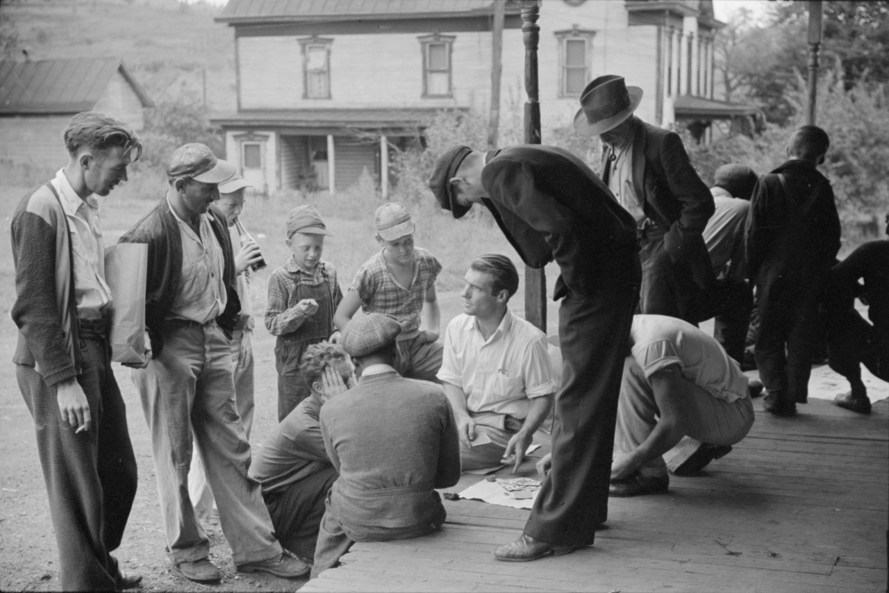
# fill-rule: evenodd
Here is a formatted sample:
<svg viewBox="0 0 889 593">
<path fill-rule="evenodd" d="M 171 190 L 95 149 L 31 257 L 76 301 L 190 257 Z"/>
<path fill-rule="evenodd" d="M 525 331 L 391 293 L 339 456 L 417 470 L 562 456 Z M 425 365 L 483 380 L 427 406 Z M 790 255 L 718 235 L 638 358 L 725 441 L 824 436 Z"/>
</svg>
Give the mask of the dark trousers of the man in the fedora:
<svg viewBox="0 0 889 593">
<path fill-rule="evenodd" d="M 639 313 L 677 317 L 698 325 L 701 289 L 694 283 L 691 268 L 670 258 L 664 249 L 662 231 L 654 229 L 642 237 L 639 260 L 642 263 Z"/>
</svg>

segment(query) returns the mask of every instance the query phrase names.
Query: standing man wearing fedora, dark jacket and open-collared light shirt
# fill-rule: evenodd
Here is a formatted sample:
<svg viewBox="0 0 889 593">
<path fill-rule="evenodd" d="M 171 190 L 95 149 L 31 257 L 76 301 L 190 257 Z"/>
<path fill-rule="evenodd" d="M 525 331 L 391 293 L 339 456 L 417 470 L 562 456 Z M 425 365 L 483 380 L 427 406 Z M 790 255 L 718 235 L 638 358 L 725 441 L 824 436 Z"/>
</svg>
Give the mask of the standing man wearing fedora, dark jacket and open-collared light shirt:
<svg viewBox="0 0 889 593">
<path fill-rule="evenodd" d="M 640 313 L 697 324 L 715 284 L 701 237 L 713 214 L 713 196 L 679 135 L 633 115 L 642 94 L 622 76 L 599 76 L 581 94 L 574 129 L 602 139 L 602 180 L 636 220 Z"/>
</svg>

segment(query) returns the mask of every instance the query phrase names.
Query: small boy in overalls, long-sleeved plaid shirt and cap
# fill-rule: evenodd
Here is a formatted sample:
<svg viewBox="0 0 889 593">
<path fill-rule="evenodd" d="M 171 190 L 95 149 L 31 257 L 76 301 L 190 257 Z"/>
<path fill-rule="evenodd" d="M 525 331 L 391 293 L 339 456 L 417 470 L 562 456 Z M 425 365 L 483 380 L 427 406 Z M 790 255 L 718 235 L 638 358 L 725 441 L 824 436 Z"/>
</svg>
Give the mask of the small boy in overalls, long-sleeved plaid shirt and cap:
<svg viewBox="0 0 889 593">
<path fill-rule="evenodd" d="M 342 301 L 336 270 L 321 259 L 324 236 L 331 235 L 315 206 L 293 208 L 287 217 L 290 260 L 268 278 L 266 328 L 277 336 L 278 421 L 310 395 L 300 358 L 319 341 L 338 341 L 333 312 Z"/>
</svg>

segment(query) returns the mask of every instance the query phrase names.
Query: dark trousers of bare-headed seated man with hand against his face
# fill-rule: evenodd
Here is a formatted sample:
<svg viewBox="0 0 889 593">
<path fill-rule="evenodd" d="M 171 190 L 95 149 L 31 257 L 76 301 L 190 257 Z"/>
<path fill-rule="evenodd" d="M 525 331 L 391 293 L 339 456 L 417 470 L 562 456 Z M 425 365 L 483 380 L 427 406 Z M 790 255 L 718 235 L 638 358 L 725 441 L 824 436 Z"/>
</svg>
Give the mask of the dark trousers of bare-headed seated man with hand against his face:
<svg viewBox="0 0 889 593">
<path fill-rule="evenodd" d="M 300 558 L 311 561 L 315 557 L 324 501 L 336 478 L 336 469 L 324 468 L 277 491 L 263 494 L 278 541 Z"/>
</svg>

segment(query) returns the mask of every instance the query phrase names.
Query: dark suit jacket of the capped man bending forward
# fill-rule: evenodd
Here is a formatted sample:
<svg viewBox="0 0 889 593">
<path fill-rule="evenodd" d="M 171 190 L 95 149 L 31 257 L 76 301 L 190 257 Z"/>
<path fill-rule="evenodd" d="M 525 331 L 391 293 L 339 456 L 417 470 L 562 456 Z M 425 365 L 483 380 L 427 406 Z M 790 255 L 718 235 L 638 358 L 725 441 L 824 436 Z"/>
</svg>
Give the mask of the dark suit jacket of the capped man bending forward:
<svg viewBox="0 0 889 593">
<path fill-rule="evenodd" d="M 520 145 L 486 155 L 482 184 L 509 243 L 532 268 L 556 260 L 553 299 L 614 282 L 639 284 L 636 223 L 596 173 L 562 148 Z"/>
</svg>

